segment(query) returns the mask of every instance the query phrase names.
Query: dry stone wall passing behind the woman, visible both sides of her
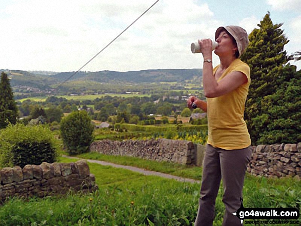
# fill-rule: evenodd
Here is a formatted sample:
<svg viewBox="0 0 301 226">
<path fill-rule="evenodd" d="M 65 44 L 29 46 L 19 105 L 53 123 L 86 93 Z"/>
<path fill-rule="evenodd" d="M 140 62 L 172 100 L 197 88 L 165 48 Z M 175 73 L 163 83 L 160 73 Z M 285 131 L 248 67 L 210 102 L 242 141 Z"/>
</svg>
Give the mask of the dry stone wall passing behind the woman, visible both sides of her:
<svg viewBox="0 0 301 226">
<path fill-rule="evenodd" d="M 203 166 L 206 152 L 203 145 L 168 139 L 100 140 L 93 142 L 90 150 L 106 155 L 133 156 L 199 167 Z M 247 171 L 256 176 L 301 178 L 301 143 L 253 146 Z"/>
</svg>

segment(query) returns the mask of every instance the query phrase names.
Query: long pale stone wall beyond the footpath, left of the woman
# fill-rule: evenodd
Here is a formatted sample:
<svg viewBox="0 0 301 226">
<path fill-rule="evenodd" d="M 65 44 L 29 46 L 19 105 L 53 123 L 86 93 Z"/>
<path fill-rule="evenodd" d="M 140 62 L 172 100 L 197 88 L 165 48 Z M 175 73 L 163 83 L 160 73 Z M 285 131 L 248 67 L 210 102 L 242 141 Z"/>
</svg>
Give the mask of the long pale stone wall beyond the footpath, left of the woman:
<svg viewBox="0 0 301 226">
<path fill-rule="evenodd" d="M 180 164 L 195 163 L 194 144 L 187 140 L 99 140 L 91 144 L 90 150 L 106 155 L 126 155 Z"/>
</svg>

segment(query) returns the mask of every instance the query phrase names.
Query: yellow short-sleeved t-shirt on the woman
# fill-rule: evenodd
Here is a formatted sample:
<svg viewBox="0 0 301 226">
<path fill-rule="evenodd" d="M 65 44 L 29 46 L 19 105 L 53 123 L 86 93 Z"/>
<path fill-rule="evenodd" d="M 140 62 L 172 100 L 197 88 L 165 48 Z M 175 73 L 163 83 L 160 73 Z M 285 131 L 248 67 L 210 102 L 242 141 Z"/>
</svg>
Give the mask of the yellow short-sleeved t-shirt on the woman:
<svg viewBox="0 0 301 226">
<path fill-rule="evenodd" d="M 218 67 L 219 65 L 213 69 L 213 74 Z M 242 149 L 251 145 L 244 120 L 245 103 L 251 83 L 249 66 L 242 60 L 235 59 L 220 76 L 217 83 L 233 71 L 244 73 L 248 82 L 226 95 L 207 98 L 207 143 L 226 150 Z"/>
</svg>

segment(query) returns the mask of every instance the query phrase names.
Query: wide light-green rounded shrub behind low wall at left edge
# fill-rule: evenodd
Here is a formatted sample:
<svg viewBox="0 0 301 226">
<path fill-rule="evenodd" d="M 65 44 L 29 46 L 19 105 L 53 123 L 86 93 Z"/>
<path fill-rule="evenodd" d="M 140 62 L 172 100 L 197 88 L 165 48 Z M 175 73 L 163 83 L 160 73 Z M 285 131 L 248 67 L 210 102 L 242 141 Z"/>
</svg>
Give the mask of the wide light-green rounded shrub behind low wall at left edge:
<svg viewBox="0 0 301 226">
<path fill-rule="evenodd" d="M 0 167 L 23 168 L 56 160 L 57 141 L 46 126 L 9 125 L 0 137 Z"/>
</svg>

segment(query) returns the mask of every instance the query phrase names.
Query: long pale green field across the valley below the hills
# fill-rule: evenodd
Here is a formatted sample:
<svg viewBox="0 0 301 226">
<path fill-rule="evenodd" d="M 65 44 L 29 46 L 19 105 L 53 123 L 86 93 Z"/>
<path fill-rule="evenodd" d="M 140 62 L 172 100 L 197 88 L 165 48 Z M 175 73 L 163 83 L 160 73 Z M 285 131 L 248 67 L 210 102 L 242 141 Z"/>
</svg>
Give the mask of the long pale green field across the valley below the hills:
<svg viewBox="0 0 301 226">
<path fill-rule="evenodd" d="M 63 97 L 66 98 L 67 100 L 94 100 L 96 98 L 101 98 L 104 96 L 117 96 L 117 97 L 123 97 L 123 98 L 128 98 L 128 97 L 144 97 L 144 96 L 151 96 L 150 94 L 99 94 L 99 95 L 83 95 L 83 96 L 56 96 L 56 97 Z M 44 102 L 49 96 L 36 96 L 36 97 L 28 97 L 28 98 L 24 98 L 24 99 L 19 99 L 18 101 L 23 102 L 24 100 L 30 99 L 36 102 Z"/>
</svg>

